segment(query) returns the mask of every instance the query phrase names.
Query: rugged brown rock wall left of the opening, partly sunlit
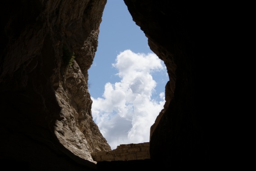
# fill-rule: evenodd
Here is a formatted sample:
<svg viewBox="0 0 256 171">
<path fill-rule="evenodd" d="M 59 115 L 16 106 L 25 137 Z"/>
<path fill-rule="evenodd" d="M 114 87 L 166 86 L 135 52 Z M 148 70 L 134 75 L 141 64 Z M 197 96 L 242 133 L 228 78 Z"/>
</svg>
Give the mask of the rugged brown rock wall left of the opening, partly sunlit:
<svg viewBox="0 0 256 171">
<path fill-rule="evenodd" d="M 73 165 L 67 158 L 93 166 L 90 153 L 111 150 L 87 84 L 106 2 L 1 1 L 1 159 L 61 169 Z"/>
</svg>

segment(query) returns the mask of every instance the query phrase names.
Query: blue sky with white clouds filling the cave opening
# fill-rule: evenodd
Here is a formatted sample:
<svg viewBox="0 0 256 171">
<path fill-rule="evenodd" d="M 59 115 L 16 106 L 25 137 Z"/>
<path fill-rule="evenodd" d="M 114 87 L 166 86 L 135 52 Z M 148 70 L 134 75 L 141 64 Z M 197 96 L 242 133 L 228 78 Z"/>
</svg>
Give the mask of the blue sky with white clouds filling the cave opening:
<svg viewBox="0 0 256 171">
<path fill-rule="evenodd" d="M 163 61 L 150 50 L 124 1 L 107 0 L 88 84 L 93 121 L 112 150 L 149 142 L 168 80 Z"/>
</svg>

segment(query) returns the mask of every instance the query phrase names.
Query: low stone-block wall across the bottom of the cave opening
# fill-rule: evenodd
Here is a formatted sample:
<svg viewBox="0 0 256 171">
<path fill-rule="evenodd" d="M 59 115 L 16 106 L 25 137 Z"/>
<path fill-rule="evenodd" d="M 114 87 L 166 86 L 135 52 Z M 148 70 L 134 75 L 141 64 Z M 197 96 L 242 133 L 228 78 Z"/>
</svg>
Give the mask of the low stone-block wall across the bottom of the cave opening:
<svg viewBox="0 0 256 171">
<path fill-rule="evenodd" d="M 139 144 L 121 144 L 114 150 L 93 152 L 91 155 L 93 160 L 96 162 L 149 159 L 149 142 Z"/>
</svg>

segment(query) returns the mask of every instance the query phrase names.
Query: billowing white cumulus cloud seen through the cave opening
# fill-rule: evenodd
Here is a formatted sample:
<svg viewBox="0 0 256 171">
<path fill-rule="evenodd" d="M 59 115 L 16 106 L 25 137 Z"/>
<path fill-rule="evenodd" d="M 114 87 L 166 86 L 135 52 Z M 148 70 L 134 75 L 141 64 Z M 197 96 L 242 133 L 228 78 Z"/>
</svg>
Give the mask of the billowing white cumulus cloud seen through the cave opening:
<svg viewBox="0 0 256 171">
<path fill-rule="evenodd" d="M 120 82 L 105 84 L 102 98 L 94 99 L 93 120 L 112 149 L 120 144 L 149 142 L 150 126 L 154 124 L 165 103 L 152 99 L 157 83 L 153 72 L 166 72 L 163 62 L 155 54 L 136 54 L 125 50 L 115 63 Z"/>
</svg>

